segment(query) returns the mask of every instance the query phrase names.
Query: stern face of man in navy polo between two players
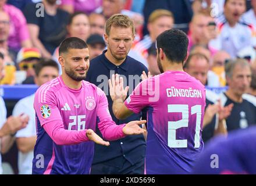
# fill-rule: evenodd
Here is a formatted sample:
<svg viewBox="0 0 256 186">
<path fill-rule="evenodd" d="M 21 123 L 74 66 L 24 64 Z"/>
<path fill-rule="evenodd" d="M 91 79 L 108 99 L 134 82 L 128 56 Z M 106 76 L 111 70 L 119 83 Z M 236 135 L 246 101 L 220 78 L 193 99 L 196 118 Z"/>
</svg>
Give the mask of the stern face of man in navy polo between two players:
<svg viewBox="0 0 256 186">
<path fill-rule="evenodd" d="M 131 27 L 111 27 L 109 35 L 104 34 L 108 51 L 116 62 L 124 60 L 133 44 L 134 35 Z"/>
</svg>

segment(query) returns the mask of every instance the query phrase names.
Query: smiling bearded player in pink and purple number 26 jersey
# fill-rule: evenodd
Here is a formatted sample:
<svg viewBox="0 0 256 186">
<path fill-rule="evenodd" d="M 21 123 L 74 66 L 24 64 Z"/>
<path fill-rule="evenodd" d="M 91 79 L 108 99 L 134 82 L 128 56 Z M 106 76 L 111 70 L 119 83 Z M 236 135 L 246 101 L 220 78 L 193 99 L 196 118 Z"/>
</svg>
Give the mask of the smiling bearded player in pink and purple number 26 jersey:
<svg viewBox="0 0 256 186">
<path fill-rule="evenodd" d="M 84 81 L 90 65 L 86 42 L 67 38 L 59 47 L 58 60 L 62 75 L 35 93 L 33 174 L 89 174 L 94 142 L 109 145 L 94 133 L 97 123 L 106 140 L 118 140 L 144 133 L 139 125 L 146 121 L 115 124 L 104 92 Z"/>
</svg>

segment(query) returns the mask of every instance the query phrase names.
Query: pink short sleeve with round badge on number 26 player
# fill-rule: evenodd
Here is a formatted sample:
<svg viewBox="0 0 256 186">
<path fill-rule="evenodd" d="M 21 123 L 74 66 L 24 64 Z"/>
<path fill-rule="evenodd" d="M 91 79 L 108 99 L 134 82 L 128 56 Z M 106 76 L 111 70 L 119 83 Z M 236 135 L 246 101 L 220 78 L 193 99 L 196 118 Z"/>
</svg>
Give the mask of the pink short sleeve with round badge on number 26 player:
<svg viewBox="0 0 256 186">
<path fill-rule="evenodd" d="M 40 87 L 35 93 L 34 109 L 41 126 L 55 120 L 62 120 L 54 91 Z"/>
</svg>

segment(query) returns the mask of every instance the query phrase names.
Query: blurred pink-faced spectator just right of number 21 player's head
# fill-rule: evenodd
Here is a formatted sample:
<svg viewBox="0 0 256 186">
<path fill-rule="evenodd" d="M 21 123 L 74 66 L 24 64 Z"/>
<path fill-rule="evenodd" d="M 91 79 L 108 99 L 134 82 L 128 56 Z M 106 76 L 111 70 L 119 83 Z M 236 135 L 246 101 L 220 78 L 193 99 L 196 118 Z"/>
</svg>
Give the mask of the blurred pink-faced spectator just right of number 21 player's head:
<svg viewBox="0 0 256 186">
<path fill-rule="evenodd" d="M 216 23 L 210 15 L 210 10 L 201 10 L 196 13 L 189 24 L 189 51 L 193 45 L 203 45 L 211 52 L 211 56 L 216 53 L 216 49 L 209 46 L 209 41 L 217 37 Z"/>
</svg>

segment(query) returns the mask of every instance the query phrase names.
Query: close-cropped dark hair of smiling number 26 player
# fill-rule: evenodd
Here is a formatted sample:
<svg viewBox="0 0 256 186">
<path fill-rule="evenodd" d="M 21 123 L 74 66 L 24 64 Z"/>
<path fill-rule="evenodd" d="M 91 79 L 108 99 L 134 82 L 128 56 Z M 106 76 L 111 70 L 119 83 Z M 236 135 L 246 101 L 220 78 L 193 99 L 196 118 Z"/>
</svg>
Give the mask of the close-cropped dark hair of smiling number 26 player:
<svg viewBox="0 0 256 186">
<path fill-rule="evenodd" d="M 61 42 L 59 45 L 59 55 L 66 53 L 69 49 L 84 49 L 88 48 L 86 42 L 78 37 L 69 37 Z"/>
</svg>

